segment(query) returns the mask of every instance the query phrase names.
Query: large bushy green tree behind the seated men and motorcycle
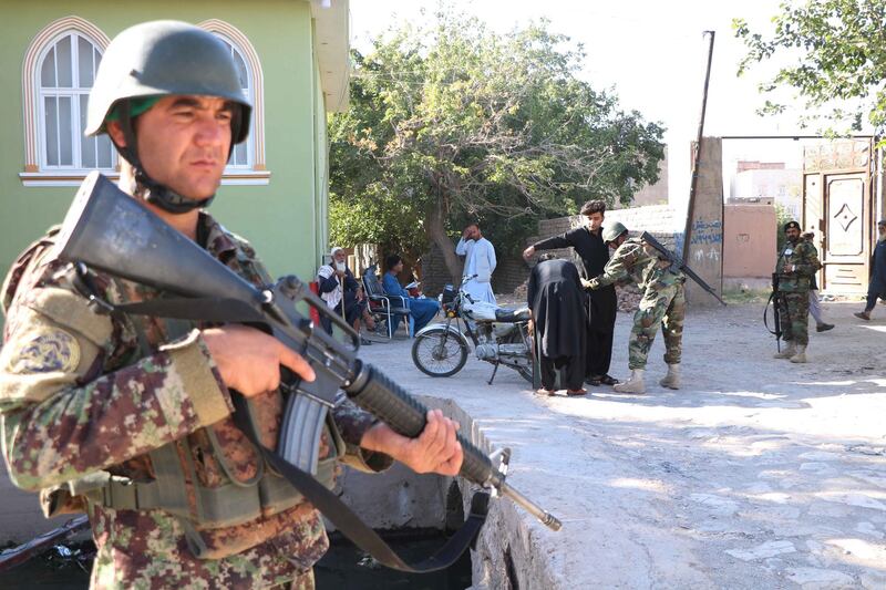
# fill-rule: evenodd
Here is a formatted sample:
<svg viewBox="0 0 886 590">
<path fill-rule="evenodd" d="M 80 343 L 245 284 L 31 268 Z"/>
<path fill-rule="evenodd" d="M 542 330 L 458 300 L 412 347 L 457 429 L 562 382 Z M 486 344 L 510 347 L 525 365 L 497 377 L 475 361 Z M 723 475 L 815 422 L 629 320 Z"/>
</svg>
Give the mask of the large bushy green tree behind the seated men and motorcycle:
<svg viewBox="0 0 886 590">
<path fill-rule="evenodd" d="M 338 242 L 443 251 L 476 219 L 516 250 L 538 215 L 590 196 L 629 203 L 658 178 L 663 130 L 576 79 L 584 54 L 546 23 L 494 34 L 441 10 L 353 54 L 351 105 L 330 116 L 330 229 Z"/>
</svg>

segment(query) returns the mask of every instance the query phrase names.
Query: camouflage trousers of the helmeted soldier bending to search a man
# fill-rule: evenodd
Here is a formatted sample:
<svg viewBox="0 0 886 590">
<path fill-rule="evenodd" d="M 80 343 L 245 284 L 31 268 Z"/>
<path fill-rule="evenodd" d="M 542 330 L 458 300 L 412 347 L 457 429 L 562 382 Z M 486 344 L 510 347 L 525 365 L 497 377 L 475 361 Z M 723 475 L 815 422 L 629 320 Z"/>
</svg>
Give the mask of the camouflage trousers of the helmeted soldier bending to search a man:
<svg viewBox="0 0 886 590">
<path fill-rule="evenodd" d="M 682 354 L 683 320 L 686 319 L 686 291 L 683 283 L 649 287 L 633 314 L 633 328 L 628 342 L 628 369 L 645 369 L 649 349 L 656 340 L 658 327 L 664 334 L 664 362 L 679 364 Z"/>
</svg>

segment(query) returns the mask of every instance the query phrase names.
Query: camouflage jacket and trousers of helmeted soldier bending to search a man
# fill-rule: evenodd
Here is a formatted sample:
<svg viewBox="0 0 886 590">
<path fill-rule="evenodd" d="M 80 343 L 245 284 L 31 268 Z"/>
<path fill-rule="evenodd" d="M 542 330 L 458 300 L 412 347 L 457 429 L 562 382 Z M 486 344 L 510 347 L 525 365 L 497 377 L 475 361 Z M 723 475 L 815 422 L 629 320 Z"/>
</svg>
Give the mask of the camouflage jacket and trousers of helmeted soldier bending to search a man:
<svg viewBox="0 0 886 590">
<path fill-rule="evenodd" d="M 602 275 L 590 280 L 591 288 L 628 282 L 642 292 L 640 309 L 633 314 L 628 343 L 628 368 L 645 369 L 649 349 L 661 324 L 664 334 L 664 362 L 679 364 L 686 318 L 686 276 L 674 271 L 640 238 L 628 238 L 612 255 Z"/>
</svg>

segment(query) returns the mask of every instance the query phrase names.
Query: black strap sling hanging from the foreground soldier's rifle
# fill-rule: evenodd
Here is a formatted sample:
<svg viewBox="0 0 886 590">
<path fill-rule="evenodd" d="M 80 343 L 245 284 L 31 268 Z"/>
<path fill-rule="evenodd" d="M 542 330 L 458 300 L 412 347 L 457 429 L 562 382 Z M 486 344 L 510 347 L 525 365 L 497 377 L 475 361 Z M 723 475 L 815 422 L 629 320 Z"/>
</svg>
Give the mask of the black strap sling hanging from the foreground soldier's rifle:
<svg viewBox="0 0 886 590">
<path fill-rule="evenodd" d="M 154 299 L 137 303 L 115 306 L 115 312 L 144 315 L 172 317 L 195 321 L 261 321 L 261 314 L 243 301 L 234 299 Z M 247 438 L 259 449 L 265 460 L 282 475 L 315 508 L 320 510 L 346 537 L 363 551 L 367 551 L 380 563 L 400 571 L 423 573 L 445 569 L 474 542 L 480 529 L 486 521 L 490 495 L 476 491 L 471 498 L 471 514 L 465 522 L 449 540 L 431 556 L 418 562 L 408 562 L 398 556 L 359 516 L 357 516 L 339 497 L 303 472 L 284 459 L 280 455 L 261 444 L 254 424 L 245 411 L 246 397 L 231 395 L 234 402 L 234 423 L 246 434 Z"/>
</svg>

